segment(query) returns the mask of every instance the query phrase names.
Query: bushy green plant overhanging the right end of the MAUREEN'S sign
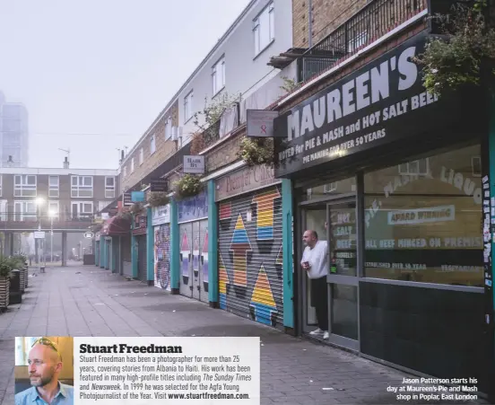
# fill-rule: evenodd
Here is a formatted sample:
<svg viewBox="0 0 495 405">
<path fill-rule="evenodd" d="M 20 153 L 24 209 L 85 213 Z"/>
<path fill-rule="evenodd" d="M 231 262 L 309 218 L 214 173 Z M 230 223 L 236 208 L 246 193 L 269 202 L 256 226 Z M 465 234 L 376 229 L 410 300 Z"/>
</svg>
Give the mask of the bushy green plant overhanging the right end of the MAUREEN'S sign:
<svg viewBox="0 0 495 405">
<path fill-rule="evenodd" d="M 457 5 L 442 24 L 447 40 L 433 39 L 413 61 L 422 66 L 426 90 L 439 95 L 465 84 L 479 85 L 483 59 L 495 58 L 495 31 L 481 13 L 485 0 L 474 8 Z"/>
</svg>

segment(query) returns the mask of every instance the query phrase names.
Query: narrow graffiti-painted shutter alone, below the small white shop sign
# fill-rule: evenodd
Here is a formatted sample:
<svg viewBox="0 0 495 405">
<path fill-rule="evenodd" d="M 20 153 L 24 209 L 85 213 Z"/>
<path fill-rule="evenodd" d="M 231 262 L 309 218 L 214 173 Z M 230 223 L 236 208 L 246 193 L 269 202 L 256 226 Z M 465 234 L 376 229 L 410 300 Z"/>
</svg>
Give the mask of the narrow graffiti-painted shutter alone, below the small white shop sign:
<svg viewBox="0 0 495 405">
<path fill-rule="evenodd" d="M 170 291 L 170 225 L 154 227 L 154 285 Z"/>
</svg>

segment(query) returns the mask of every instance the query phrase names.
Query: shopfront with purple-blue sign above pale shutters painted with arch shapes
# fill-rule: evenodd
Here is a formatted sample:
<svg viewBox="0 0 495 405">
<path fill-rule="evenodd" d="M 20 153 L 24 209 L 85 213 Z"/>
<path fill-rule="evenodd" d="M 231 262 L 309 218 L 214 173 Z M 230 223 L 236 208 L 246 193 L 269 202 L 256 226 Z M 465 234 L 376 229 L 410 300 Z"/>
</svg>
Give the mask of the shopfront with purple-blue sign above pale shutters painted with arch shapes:
<svg viewBox="0 0 495 405">
<path fill-rule="evenodd" d="M 178 202 L 179 292 L 208 303 L 208 198 L 206 191 Z"/>
</svg>

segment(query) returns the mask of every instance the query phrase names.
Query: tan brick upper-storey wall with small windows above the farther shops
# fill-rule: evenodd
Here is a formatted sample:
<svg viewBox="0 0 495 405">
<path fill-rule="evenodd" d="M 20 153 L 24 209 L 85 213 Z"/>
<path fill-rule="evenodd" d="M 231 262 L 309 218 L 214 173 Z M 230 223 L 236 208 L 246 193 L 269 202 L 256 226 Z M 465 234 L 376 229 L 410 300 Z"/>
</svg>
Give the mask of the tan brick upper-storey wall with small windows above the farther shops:
<svg viewBox="0 0 495 405">
<path fill-rule="evenodd" d="M 150 134 L 143 139 L 140 145 L 137 145 L 132 154 L 126 156 L 126 163 L 121 167 L 121 190 L 126 187 L 133 187 L 139 180 L 142 180 L 147 174 L 152 172 L 161 163 L 169 159 L 177 151 L 177 142 L 171 139 L 165 140 L 165 123 L 171 117 L 172 126 L 178 127 L 178 101 L 176 101 L 154 126 Z M 155 136 L 156 150 L 151 154 L 151 138 Z M 139 164 L 140 150 L 143 148 L 143 164 Z M 135 171 L 131 173 L 131 160 L 135 159 Z M 127 176 L 124 176 L 124 166 L 127 168 Z"/>
</svg>

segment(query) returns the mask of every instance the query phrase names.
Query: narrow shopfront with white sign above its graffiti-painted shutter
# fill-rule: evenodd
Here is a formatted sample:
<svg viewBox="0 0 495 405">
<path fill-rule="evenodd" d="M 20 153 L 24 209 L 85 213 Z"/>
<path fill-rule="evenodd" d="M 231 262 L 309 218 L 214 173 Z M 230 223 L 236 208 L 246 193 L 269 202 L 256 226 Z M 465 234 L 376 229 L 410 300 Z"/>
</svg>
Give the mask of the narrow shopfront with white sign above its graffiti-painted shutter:
<svg viewBox="0 0 495 405">
<path fill-rule="evenodd" d="M 154 286 L 170 291 L 170 205 L 152 207 Z"/>
</svg>

